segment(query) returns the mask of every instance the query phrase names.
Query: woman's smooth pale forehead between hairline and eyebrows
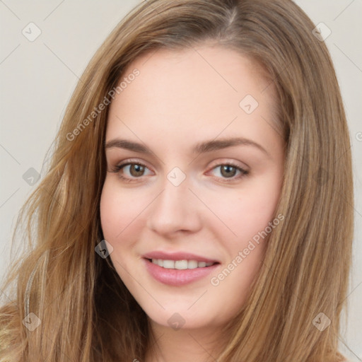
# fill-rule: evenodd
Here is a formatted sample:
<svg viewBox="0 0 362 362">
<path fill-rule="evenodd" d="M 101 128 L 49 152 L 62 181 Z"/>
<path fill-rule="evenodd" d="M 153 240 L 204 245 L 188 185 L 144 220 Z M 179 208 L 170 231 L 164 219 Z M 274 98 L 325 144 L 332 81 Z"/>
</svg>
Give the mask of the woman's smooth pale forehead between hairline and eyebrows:
<svg viewBox="0 0 362 362">
<path fill-rule="evenodd" d="M 228 135 L 270 130 L 263 118 L 274 120 L 274 89 L 261 67 L 238 52 L 216 46 L 158 49 L 129 64 L 119 82 L 134 69 L 139 75 L 110 105 L 107 139 L 130 129 L 179 139 L 201 131 L 215 138 L 226 127 Z M 245 112 L 245 99 L 256 106 L 253 112 Z"/>
</svg>

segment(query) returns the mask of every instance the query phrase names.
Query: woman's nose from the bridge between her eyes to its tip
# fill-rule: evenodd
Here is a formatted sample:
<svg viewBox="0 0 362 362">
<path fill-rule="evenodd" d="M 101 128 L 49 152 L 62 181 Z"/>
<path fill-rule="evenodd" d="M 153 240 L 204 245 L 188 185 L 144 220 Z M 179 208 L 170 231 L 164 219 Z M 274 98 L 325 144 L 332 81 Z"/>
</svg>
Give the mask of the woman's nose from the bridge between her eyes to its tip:
<svg viewBox="0 0 362 362">
<path fill-rule="evenodd" d="M 166 175 L 163 190 L 152 203 L 148 217 L 149 228 L 158 233 L 172 233 L 199 227 L 197 200 L 189 186 L 189 179 L 180 168 L 173 168 Z"/>
</svg>

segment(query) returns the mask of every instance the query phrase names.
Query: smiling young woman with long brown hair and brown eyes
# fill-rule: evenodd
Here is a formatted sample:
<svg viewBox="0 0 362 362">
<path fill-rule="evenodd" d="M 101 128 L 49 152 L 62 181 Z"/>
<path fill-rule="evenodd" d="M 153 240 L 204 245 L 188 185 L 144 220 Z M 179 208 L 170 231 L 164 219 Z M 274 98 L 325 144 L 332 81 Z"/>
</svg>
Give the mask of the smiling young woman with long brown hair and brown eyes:
<svg viewBox="0 0 362 362">
<path fill-rule="evenodd" d="M 23 209 L 0 361 L 343 361 L 351 154 L 313 28 L 285 0 L 117 25 Z"/>
</svg>

